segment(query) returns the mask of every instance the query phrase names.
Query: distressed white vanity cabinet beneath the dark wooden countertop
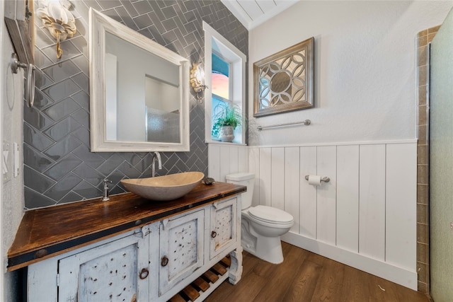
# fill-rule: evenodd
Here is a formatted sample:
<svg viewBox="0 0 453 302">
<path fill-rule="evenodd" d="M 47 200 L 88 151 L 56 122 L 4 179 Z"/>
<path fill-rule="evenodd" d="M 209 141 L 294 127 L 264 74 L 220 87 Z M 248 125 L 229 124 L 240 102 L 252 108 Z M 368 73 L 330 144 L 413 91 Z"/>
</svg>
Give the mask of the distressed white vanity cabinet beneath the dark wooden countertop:
<svg viewBox="0 0 453 302">
<path fill-rule="evenodd" d="M 182 208 L 169 202 L 172 214 L 154 212 L 160 217 L 153 219 L 147 213 L 149 223 L 142 216 L 130 230 L 33 260 L 27 270 L 27 300 L 168 301 L 226 255 L 231 259 L 226 274 L 200 290 L 197 301 L 225 279 L 236 284 L 242 274 L 241 196 L 236 191 L 216 193 L 208 202 L 186 201 Z"/>
</svg>

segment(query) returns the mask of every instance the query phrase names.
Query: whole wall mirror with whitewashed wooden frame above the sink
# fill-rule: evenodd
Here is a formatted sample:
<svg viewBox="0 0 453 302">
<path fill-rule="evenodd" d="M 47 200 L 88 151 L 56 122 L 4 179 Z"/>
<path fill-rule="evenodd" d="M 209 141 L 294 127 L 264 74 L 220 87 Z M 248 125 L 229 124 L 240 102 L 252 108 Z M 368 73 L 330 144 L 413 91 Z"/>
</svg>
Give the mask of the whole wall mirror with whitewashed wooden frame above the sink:
<svg viewBox="0 0 453 302">
<path fill-rule="evenodd" d="M 91 151 L 189 151 L 189 61 L 90 8 Z"/>
</svg>

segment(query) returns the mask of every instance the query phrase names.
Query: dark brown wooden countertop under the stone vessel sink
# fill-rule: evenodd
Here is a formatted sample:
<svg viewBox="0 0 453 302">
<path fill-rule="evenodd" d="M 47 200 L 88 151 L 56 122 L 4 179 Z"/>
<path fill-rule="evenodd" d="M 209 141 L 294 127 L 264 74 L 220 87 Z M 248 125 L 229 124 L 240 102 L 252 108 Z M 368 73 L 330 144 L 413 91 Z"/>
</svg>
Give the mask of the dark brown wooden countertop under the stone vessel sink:
<svg viewBox="0 0 453 302">
<path fill-rule="evenodd" d="M 125 193 L 111 196 L 108 202 L 96 198 L 26 211 L 8 250 L 8 271 L 245 191 L 244 186 L 225 182 L 200 183 L 168 202 Z"/>
</svg>

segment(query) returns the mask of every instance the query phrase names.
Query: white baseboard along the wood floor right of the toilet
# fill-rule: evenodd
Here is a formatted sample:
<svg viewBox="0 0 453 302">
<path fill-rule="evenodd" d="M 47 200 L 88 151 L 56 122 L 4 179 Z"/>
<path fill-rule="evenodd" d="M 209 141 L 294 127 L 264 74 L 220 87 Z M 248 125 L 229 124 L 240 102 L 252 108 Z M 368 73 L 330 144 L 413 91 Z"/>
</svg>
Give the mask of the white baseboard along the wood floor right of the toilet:
<svg viewBox="0 0 453 302">
<path fill-rule="evenodd" d="M 348 250 L 343 250 L 327 243 L 322 243 L 302 235 L 289 232 L 282 236 L 286 243 L 296 245 L 304 250 L 309 250 L 323 257 L 341 262 L 350 267 L 355 267 L 369 274 L 384 278 L 396 284 L 406 286 L 409 289 L 417 290 L 417 272 L 402 267 L 396 267 L 380 260 L 375 260 L 364 255 L 357 254 Z"/>
</svg>

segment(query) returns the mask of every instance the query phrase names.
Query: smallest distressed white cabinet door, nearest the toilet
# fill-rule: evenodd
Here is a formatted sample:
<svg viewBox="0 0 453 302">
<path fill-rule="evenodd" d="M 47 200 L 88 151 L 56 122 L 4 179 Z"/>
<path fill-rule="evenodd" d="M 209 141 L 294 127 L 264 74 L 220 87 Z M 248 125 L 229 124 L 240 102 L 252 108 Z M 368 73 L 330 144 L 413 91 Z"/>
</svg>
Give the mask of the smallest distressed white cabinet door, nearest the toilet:
<svg viewBox="0 0 453 302">
<path fill-rule="evenodd" d="M 216 202 L 211 207 L 210 259 L 236 242 L 236 198 Z"/>
</svg>

